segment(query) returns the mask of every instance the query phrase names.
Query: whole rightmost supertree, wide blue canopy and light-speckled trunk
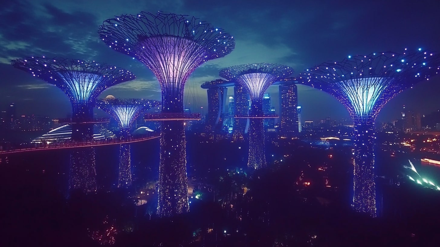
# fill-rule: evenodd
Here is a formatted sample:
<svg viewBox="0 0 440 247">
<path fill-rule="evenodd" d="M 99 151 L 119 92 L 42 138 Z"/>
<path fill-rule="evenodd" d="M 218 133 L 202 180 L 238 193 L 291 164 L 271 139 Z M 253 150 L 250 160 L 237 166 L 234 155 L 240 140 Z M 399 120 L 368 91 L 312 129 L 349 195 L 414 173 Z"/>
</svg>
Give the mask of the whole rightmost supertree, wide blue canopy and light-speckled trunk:
<svg viewBox="0 0 440 247">
<path fill-rule="evenodd" d="M 348 56 L 307 69 L 298 81 L 333 95 L 355 123 L 353 209 L 376 216 L 374 183 L 374 121 L 384 105 L 416 82 L 438 70 L 432 52 L 377 52 Z"/>
</svg>

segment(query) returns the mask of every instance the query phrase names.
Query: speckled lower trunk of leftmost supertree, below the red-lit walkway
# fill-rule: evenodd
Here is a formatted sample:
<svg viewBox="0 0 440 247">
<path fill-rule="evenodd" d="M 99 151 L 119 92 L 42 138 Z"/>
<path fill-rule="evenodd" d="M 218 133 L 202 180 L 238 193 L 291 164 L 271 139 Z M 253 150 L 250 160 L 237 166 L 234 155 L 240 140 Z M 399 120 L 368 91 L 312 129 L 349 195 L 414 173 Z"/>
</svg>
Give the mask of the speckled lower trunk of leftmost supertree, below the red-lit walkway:
<svg viewBox="0 0 440 247">
<path fill-rule="evenodd" d="M 70 153 L 69 191 L 95 192 L 95 148 L 81 147 Z"/>
</svg>

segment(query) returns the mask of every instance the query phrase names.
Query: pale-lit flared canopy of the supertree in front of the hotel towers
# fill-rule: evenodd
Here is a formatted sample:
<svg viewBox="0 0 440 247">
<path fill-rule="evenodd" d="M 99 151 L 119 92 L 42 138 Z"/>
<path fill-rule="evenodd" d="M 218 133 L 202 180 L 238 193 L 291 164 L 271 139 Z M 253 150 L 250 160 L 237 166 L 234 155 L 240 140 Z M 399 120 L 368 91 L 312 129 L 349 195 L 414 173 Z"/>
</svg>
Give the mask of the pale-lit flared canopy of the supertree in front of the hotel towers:
<svg viewBox="0 0 440 247">
<path fill-rule="evenodd" d="M 262 114 L 262 103 L 264 92 L 268 87 L 293 73 L 293 69 L 281 64 L 242 64 L 225 68 L 220 71 L 220 76 L 236 81 L 245 86 L 249 91 L 252 101 L 251 115 Z"/>
</svg>

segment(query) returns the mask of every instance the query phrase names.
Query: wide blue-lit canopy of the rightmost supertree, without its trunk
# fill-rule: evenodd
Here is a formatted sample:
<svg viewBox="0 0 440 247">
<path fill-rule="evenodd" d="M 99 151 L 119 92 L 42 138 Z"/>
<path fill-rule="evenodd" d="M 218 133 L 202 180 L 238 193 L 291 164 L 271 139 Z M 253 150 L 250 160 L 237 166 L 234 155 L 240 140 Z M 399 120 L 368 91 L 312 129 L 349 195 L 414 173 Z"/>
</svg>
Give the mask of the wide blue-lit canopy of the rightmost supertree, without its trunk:
<svg viewBox="0 0 440 247">
<path fill-rule="evenodd" d="M 422 49 L 374 52 L 320 64 L 301 73 L 297 80 L 336 97 L 356 124 L 373 123 L 390 99 L 438 73 L 438 64 L 438 55 Z"/>
</svg>

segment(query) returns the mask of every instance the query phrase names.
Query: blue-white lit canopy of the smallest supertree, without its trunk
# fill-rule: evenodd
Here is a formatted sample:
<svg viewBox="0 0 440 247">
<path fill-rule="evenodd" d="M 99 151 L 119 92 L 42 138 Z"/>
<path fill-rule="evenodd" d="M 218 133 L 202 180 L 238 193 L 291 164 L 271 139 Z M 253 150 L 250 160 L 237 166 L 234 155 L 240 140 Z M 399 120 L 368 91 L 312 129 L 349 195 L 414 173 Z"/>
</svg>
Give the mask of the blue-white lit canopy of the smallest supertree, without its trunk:
<svg viewBox="0 0 440 247">
<path fill-rule="evenodd" d="M 134 121 L 140 114 L 159 105 L 159 101 L 144 99 L 105 98 L 96 101 L 96 108 L 110 114 L 125 134 L 132 129 Z"/>
</svg>

